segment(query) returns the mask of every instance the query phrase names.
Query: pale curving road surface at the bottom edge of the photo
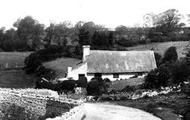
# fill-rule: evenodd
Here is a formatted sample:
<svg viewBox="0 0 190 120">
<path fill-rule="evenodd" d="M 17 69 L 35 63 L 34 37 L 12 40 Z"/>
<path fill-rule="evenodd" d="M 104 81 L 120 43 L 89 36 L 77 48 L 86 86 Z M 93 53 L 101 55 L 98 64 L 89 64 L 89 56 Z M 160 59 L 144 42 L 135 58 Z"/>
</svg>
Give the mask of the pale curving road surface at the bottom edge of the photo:
<svg viewBox="0 0 190 120">
<path fill-rule="evenodd" d="M 139 109 L 110 104 L 85 103 L 84 120 L 161 120 Z"/>
</svg>

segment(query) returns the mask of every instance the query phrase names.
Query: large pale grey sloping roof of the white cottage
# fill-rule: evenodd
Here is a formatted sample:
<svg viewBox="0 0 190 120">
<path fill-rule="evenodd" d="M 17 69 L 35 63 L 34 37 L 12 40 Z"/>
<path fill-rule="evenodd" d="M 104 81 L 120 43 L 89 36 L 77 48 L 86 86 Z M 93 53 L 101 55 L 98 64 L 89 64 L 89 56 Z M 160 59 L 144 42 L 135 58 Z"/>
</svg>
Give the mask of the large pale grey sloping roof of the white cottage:
<svg viewBox="0 0 190 120">
<path fill-rule="evenodd" d="M 88 73 L 148 72 L 156 68 L 153 51 L 91 50 Z"/>
</svg>

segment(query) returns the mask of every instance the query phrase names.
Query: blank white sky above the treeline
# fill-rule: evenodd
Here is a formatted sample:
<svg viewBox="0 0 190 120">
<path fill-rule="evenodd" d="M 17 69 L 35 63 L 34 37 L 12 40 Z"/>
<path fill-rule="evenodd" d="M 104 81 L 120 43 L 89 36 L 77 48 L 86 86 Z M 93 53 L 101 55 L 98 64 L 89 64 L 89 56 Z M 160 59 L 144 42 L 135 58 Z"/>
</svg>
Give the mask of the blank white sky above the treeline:
<svg viewBox="0 0 190 120">
<path fill-rule="evenodd" d="M 175 8 L 190 13 L 189 0 L 0 0 L 0 27 L 9 29 L 18 18 L 32 16 L 40 23 L 93 21 L 108 28 L 141 26 L 147 13 Z"/>
</svg>

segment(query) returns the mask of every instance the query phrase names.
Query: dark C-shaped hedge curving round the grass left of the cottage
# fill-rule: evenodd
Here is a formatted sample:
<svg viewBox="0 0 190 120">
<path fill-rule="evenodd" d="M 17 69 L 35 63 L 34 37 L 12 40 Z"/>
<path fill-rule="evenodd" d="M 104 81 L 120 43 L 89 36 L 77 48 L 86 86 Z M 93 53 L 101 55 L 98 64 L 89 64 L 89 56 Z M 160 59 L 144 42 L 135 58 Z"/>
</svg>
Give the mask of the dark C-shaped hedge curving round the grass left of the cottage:
<svg viewBox="0 0 190 120">
<path fill-rule="evenodd" d="M 26 73 L 36 73 L 38 77 L 44 77 L 48 80 L 54 79 L 56 77 L 55 71 L 45 68 L 42 63 L 62 57 L 63 51 L 61 46 L 49 46 L 46 49 L 31 53 L 24 61 Z"/>
</svg>

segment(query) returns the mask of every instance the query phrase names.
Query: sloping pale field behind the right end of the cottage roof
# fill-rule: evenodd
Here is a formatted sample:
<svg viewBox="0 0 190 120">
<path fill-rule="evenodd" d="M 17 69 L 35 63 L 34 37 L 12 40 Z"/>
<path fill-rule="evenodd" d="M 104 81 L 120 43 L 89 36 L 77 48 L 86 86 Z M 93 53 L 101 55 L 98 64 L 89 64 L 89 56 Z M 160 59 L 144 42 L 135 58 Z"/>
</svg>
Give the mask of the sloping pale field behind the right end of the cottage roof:
<svg viewBox="0 0 190 120">
<path fill-rule="evenodd" d="M 146 45 L 138 45 L 134 47 L 127 47 L 127 50 L 151 50 L 160 53 L 161 55 L 171 46 L 177 48 L 178 57 L 183 57 L 185 47 L 189 44 L 189 41 L 177 41 L 177 42 L 161 42 L 161 43 L 150 43 Z"/>
</svg>

